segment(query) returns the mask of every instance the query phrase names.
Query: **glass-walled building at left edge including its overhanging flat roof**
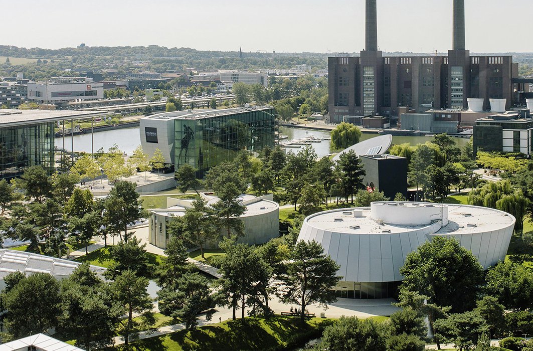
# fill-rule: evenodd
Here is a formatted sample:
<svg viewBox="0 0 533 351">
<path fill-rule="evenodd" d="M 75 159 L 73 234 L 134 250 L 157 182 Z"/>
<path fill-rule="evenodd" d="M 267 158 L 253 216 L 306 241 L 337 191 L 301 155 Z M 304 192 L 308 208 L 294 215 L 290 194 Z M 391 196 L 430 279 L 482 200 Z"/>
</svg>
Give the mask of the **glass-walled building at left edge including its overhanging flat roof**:
<svg viewBox="0 0 533 351">
<path fill-rule="evenodd" d="M 92 118 L 100 113 L 0 109 L 0 179 L 20 176 L 31 166 L 55 170 L 58 121 Z"/>
</svg>

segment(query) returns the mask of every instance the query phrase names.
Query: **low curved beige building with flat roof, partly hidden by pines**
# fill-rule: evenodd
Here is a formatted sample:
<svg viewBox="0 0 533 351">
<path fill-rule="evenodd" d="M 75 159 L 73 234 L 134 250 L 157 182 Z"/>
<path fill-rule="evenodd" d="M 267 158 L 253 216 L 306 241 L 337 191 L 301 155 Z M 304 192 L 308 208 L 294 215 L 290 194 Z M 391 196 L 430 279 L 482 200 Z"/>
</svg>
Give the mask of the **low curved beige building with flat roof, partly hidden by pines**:
<svg viewBox="0 0 533 351">
<path fill-rule="evenodd" d="M 214 194 L 202 193 L 200 196 L 207 201 L 207 205 L 219 201 Z M 239 200 L 246 206 L 246 211 L 239 219 L 244 223 L 245 235 L 238 239 L 250 245 L 262 244 L 279 236 L 279 205 L 274 202 L 272 194 L 261 197 L 243 194 Z M 166 233 L 166 225 L 173 217 L 185 214 L 187 208 L 192 207 L 193 200 L 167 198 L 167 208 L 151 209 L 149 218 L 149 241 L 151 244 L 166 248 L 171 238 Z M 221 233 L 225 235 L 225 233 Z"/>
</svg>

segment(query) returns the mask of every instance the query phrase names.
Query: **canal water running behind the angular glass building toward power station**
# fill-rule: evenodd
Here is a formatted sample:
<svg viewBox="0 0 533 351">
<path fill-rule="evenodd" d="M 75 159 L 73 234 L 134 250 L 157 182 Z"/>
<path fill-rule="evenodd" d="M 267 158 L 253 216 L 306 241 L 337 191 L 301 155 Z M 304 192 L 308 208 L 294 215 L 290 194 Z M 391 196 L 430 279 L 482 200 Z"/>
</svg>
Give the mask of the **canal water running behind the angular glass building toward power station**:
<svg viewBox="0 0 533 351">
<path fill-rule="evenodd" d="M 325 130 L 316 129 L 302 129 L 291 127 L 280 127 L 280 134 L 288 136 L 288 141 L 299 140 L 305 137 L 314 136 L 316 138 L 329 138 L 329 132 Z M 376 137 L 377 134 L 363 134 L 361 140 L 367 140 L 372 137 Z M 71 150 L 70 136 L 64 138 L 64 148 L 68 151 Z M 394 136 L 392 142 L 394 144 L 409 143 L 411 145 L 425 143 L 431 141 L 431 137 L 428 136 Z M 72 137 L 72 143 L 74 144 L 74 151 L 91 152 L 91 134 L 75 135 Z M 139 134 L 139 127 L 125 128 L 125 129 L 113 129 L 106 130 L 105 132 L 94 133 L 94 152 L 103 148 L 108 150 L 114 144 L 118 145 L 118 148 L 128 155 L 131 155 L 133 150 L 141 144 L 141 137 Z M 469 139 L 467 138 L 455 138 L 457 146 L 461 148 L 465 145 Z M 55 145 L 58 148 L 63 147 L 63 138 L 58 137 L 55 139 Z M 311 143 L 311 146 L 317 152 L 319 157 L 326 156 L 330 153 L 329 140 L 324 140 L 321 143 Z M 298 152 L 300 148 L 287 148 L 287 151 Z"/>
</svg>

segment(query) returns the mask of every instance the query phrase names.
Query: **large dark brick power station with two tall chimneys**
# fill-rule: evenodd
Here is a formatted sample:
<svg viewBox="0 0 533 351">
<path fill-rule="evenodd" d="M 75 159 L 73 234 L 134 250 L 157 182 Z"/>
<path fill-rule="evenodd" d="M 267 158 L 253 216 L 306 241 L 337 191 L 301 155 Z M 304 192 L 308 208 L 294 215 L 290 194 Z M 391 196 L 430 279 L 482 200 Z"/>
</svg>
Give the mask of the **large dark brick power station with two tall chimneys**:
<svg viewBox="0 0 533 351">
<path fill-rule="evenodd" d="M 447 56 L 386 56 L 377 45 L 376 0 L 366 0 L 366 47 L 359 57 L 329 58 L 329 116 L 398 116 L 398 107 L 416 112 L 464 109 L 468 98 L 518 99 L 512 56 L 471 56 L 465 46 L 464 0 L 453 0 L 453 48 Z"/>
</svg>

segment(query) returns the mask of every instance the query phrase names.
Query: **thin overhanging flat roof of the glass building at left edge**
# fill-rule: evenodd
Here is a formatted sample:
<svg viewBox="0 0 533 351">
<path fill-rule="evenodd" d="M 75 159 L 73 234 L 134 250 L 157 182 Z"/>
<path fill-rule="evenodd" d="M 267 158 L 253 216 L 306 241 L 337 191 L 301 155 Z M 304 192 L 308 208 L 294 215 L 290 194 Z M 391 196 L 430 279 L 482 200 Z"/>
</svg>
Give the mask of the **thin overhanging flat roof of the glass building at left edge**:
<svg viewBox="0 0 533 351">
<path fill-rule="evenodd" d="M 55 122 L 68 119 L 82 119 L 105 115 L 104 111 L 61 111 L 61 110 L 10 110 L 0 109 L 0 128 L 22 126 L 33 123 Z"/>
</svg>

